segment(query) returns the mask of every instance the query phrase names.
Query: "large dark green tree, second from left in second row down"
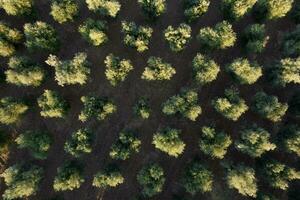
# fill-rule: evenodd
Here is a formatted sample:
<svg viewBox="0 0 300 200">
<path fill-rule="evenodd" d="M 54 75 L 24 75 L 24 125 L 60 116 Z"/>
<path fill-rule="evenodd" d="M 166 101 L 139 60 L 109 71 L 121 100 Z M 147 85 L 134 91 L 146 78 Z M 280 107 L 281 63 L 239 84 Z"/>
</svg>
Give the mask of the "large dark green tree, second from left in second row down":
<svg viewBox="0 0 300 200">
<path fill-rule="evenodd" d="M 25 45 L 31 51 L 56 52 L 60 46 L 55 29 L 49 24 L 37 21 L 24 25 Z"/>
</svg>

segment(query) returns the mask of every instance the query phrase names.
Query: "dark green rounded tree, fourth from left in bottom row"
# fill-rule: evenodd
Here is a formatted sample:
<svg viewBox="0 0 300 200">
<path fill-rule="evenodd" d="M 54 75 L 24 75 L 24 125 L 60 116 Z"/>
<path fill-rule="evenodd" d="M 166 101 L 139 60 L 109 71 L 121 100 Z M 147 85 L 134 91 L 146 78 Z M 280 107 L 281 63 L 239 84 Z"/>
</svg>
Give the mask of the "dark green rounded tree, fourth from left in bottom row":
<svg viewBox="0 0 300 200">
<path fill-rule="evenodd" d="M 149 198 L 162 191 L 165 180 L 164 170 L 157 163 L 144 166 L 137 175 L 137 181 L 143 187 L 142 194 Z"/>
</svg>

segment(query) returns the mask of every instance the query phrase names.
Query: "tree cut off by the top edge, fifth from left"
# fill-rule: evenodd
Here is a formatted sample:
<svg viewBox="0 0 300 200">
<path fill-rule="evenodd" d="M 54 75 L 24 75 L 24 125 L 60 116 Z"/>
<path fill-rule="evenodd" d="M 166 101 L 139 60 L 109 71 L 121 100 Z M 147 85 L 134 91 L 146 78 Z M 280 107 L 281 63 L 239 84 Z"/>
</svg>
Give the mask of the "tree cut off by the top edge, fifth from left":
<svg viewBox="0 0 300 200">
<path fill-rule="evenodd" d="M 208 11 L 210 0 L 184 0 L 184 16 L 188 22 L 196 21 Z"/>
</svg>

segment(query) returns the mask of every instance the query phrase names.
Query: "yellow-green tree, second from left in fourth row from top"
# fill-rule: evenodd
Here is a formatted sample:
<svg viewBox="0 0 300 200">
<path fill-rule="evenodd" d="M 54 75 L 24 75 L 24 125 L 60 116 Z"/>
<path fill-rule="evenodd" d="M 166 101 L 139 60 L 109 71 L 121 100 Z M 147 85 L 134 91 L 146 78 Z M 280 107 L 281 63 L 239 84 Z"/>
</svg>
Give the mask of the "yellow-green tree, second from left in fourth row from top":
<svg viewBox="0 0 300 200">
<path fill-rule="evenodd" d="M 41 116 L 46 118 L 63 118 L 69 110 L 69 104 L 53 90 L 44 90 L 44 93 L 37 99 L 41 108 Z"/>
</svg>

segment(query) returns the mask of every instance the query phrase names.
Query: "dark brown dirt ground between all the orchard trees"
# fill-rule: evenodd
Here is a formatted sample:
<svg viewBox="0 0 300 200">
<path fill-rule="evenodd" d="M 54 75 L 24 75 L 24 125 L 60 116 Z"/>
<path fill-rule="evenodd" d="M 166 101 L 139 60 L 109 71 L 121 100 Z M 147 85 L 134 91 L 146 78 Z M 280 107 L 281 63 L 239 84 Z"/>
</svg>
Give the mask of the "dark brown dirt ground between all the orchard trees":
<svg viewBox="0 0 300 200">
<path fill-rule="evenodd" d="M 1 83 L 1 97 L 13 96 L 27 98 L 33 100 L 32 102 L 34 104 L 33 109 L 26 114 L 22 122 L 14 126 L 2 128 L 14 134 L 21 133 L 24 130 L 47 129 L 54 138 L 54 144 L 51 147 L 48 159 L 44 161 L 33 161 L 45 169 L 45 178 L 40 185 L 38 193 L 29 199 L 46 200 L 58 195 L 66 200 L 133 200 L 140 195 L 141 191 L 141 188 L 136 181 L 136 174 L 144 164 L 152 161 L 162 165 L 166 176 L 163 192 L 153 199 L 171 200 L 174 199 L 176 195 L 180 197 L 179 199 L 186 198 L 195 200 L 247 199 L 239 195 L 235 190 L 228 188 L 224 179 L 225 171 L 221 167 L 220 162 L 210 159 L 199 151 L 198 139 L 200 128 L 203 125 L 214 122 L 219 129 L 223 129 L 230 134 L 233 139 L 236 139 L 239 137 L 238 131 L 244 125 L 256 123 L 269 130 L 272 133 L 272 138 L 275 139 L 276 133 L 283 124 L 299 123 L 299 120 L 297 121 L 297 119 L 293 118 L 293 116 L 288 113 L 282 122 L 274 124 L 260 118 L 249 110 L 238 122 L 232 122 L 214 111 L 210 104 L 211 100 L 216 96 L 222 96 L 225 88 L 236 85 L 228 74 L 224 72 L 224 65 L 231 62 L 234 58 L 245 56 L 240 46 L 240 42 L 233 48 L 215 51 L 211 54 L 211 57 L 222 66 L 221 73 L 216 81 L 204 87 L 195 87 L 194 84 L 192 84 L 191 61 L 197 52 L 201 50 L 199 43 L 196 41 L 196 35 L 201 27 L 213 26 L 222 20 L 222 15 L 219 10 L 220 0 L 211 0 L 209 11 L 196 23 L 192 24 L 193 39 L 188 47 L 181 53 L 171 52 L 163 39 L 162 32 L 168 25 L 176 26 L 184 21 L 181 1 L 168 0 L 167 13 L 156 23 L 149 24 L 153 27 L 154 33 L 150 42 L 150 49 L 142 54 L 137 53 L 134 49 L 124 46 L 120 27 L 122 20 L 135 21 L 137 24 L 146 24 L 145 18 L 142 15 L 136 0 L 120 0 L 120 2 L 122 3 L 120 15 L 116 19 L 108 20 L 108 36 L 110 41 L 106 45 L 97 48 L 92 47 L 84 41 L 77 31 L 78 25 L 87 17 L 101 19 L 101 16 L 88 11 L 83 0 L 80 1 L 80 17 L 74 23 L 63 25 L 56 23 L 49 15 L 50 1 L 36 1 L 38 20 L 51 24 L 58 31 L 62 45 L 57 55 L 62 59 L 69 59 L 77 52 L 87 52 L 88 60 L 92 63 L 92 73 L 90 82 L 85 86 L 60 87 L 54 80 L 53 69 L 44 62 L 48 56 L 46 53 L 30 54 L 26 52 L 24 47 L 19 47 L 20 54 L 28 54 L 44 66 L 49 72 L 49 78 L 38 88 L 16 87 Z M 0 18 L 20 30 L 22 30 L 22 26 L 25 22 L 30 22 L 30 20 L 23 18 L 7 16 L 3 10 L 0 11 Z M 234 30 L 237 32 L 238 36 L 240 36 L 243 29 L 251 23 L 254 23 L 254 21 L 251 15 L 248 15 L 239 22 L 233 24 Z M 266 51 L 256 58 L 258 62 L 265 67 L 272 65 L 275 60 L 280 58 L 280 45 L 278 41 L 280 40 L 282 33 L 292 30 L 295 27 L 295 24 L 286 17 L 276 21 L 268 21 L 266 27 L 268 35 L 270 36 L 270 41 Z M 129 58 L 134 65 L 134 70 L 128 75 L 126 81 L 117 87 L 112 87 L 104 75 L 103 61 L 105 56 L 109 53 L 114 53 L 122 58 Z M 160 56 L 165 61 L 171 63 L 176 68 L 176 75 L 170 81 L 166 82 L 150 83 L 142 80 L 140 78 L 141 73 L 146 66 L 146 61 L 149 56 Z M 1 71 L 6 69 L 6 63 L 7 59 L 0 58 Z M 203 113 L 197 121 L 191 122 L 180 117 L 164 116 L 161 112 L 161 104 L 168 97 L 177 94 L 180 88 L 191 86 L 195 87 L 198 91 L 199 102 L 203 109 Z M 293 94 L 300 92 L 299 87 L 295 85 L 288 85 L 284 89 L 273 88 L 264 78 L 251 86 L 236 86 L 240 89 L 241 96 L 247 100 L 248 105 L 250 105 L 251 98 L 255 92 L 260 90 L 277 95 L 282 102 L 289 101 Z M 70 102 L 71 110 L 65 120 L 43 119 L 40 117 L 35 99 L 42 94 L 44 89 L 57 90 Z M 82 109 L 80 97 L 87 94 L 96 94 L 112 98 L 118 106 L 117 113 L 102 122 L 91 120 L 87 123 L 81 123 L 78 120 L 78 114 Z M 145 121 L 134 118 L 132 113 L 132 106 L 140 96 L 150 97 L 150 104 L 153 110 L 150 119 Z M 186 149 L 184 154 L 178 158 L 171 158 L 166 154 L 159 152 L 151 144 L 153 133 L 158 127 L 164 126 L 182 130 L 182 138 L 186 143 Z M 93 152 L 80 159 L 80 162 L 84 166 L 85 183 L 78 190 L 55 193 L 52 185 L 57 167 L 61 166 L 63 161 L 71 159 L 71 157 L 64 152 L 64 142 L 73 131 L 81 127 L 90 127 L 96 133 L 96 142 L 93 147 Z M 118 133 L 122 129 L 130 129 L 138 133 L 139 138 L 142 140 L 142 148 L 138 154 L 135 154 L 129 160 L 115 162 L 109 158 L 109 148 L 117 139 Z M 276 150 L 269 153 L 268 156 L 276 158 L 284 163 L 288 163 L 290 166 L 298 167 L 298 169 L 300 168 L 299 159 L 292 155 Z M 180 184 L 180 177 L 186 164 L 194 158 L 200 159 L 203 164 L 207 165 L 208 168 L 214 172 L 214 184 L 212 192 L 191 197 L 184 192 Z M 27 151 L 13 148 L 8 165 L 24 160 L 31 160 Z M 233 146 L 229 149 L 225 160 L 231 160 L 234 163 L 245 163 L 253 168 L 259 168 L 256 160 L 239 153 Z M 125 183 L 114 189 L 99 191 L 91 185 L 93 175 L 110 163 L 116 163 L 120 166 L 122 173 L 125 176 Z M 274 194 L 280 200 L 288 199 L 288 192 L 273 190 L 263 182 L 259 175 L 257 178 L 259 190 Z M 294 181 L 290 185 L 290 188 L 292 189 L 299 189 L 299 187 L 299 181 Z M 3 182 L 1 183 L 0 188 L 3 190 Z"/>
</svg>

